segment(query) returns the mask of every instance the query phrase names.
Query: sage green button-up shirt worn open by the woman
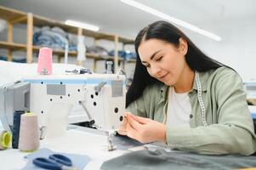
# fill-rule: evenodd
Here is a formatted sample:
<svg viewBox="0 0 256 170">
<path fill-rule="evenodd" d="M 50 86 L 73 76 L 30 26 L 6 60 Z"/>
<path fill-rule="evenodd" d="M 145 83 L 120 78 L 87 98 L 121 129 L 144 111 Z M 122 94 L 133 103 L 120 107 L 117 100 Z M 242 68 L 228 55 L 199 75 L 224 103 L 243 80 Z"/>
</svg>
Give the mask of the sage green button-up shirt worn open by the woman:
<svg viewBox="0 0 256 170">
<path fill-rule="evenodd" d="M 188 94 L 192 109 L 190 127 L 167 125 L 168 147 L 201 154 L 253 154 L 256 151 L 256 136 L 241 77 L 225 66 L 199 72 L 199 77 L 208 126 L 202 124 L 194 80 Z M 167 107 L 168 86 L 156 83 L 145 88 L 127 110 L 134 115 L 166 123 Z"/>
</svg>

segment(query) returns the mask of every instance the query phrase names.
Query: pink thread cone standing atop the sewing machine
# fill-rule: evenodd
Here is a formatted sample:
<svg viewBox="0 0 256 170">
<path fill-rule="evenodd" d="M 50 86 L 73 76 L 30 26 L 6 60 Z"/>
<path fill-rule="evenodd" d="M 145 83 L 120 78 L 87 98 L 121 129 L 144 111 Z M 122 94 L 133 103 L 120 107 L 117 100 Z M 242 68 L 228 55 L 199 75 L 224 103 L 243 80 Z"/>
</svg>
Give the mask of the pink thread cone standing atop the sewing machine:
<svg viewBox="0 0 256 170">
<path fill-rule="evenodd" d="M 40 75 L 52 74 L 53 51 L 51 48 L 40 48 L 37 62 L 37 73 Z"/>
</svg>

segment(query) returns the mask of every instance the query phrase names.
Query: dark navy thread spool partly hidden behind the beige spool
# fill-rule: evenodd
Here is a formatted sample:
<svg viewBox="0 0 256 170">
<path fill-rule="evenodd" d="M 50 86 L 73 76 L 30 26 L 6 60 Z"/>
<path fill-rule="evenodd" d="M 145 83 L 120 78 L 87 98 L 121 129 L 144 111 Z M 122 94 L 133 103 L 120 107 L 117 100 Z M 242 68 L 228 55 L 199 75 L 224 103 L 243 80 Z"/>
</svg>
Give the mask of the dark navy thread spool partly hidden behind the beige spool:
<svg viewBox="0 0 256 170">
<path fill-rule="evenodd" d="M 12 139 L 12 146 L 14 149 L 19 148 L 20 116 L 24 113 L 25 111 L 14 111 L 13 139 Z"/>
</svg>

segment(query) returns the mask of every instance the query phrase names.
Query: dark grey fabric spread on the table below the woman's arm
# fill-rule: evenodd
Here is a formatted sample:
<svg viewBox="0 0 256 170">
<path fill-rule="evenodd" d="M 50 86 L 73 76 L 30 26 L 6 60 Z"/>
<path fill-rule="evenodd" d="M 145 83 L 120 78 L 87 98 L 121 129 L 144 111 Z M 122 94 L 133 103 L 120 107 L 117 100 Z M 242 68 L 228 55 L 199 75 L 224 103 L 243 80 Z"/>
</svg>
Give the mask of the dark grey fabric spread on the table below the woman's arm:
<svg viewBox="0 0 256 170">
<path fill-rule="evenodd" d="M 255 156 L 207 156 L 188 152 L 139 150 L 105 161 L 102 169 L 237 169 L 256 167 Z"/>
</svg>

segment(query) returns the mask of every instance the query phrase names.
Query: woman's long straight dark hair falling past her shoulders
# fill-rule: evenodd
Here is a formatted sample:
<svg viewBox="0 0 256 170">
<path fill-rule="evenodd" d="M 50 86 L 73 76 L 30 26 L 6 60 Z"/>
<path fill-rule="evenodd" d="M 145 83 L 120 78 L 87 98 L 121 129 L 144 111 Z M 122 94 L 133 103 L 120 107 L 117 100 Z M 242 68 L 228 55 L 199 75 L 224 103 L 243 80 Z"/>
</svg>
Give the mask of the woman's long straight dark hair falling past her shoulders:
<svg viewBox="0 0 256 170">
<path fill-rule="evenodd" d="M 177 27 L 166 21 L 156 21 L 144 29 L 139 31 L 139 34 L 135 40 L 135 51 L 137 54 L 137 60 L 134 71 L 133 82 L 128 88 L 128 93 L 126 95 L 126 107 L 131 104 L 135 99 L 138 99 L 145 88 L 153 83 L 162 83 L 156 78 L 151 77 L 145 66 L 142 65 L 139 58 L 138 48 L 141 41 L 146 41 L 151 38 L 156 38 L 164 42 L 174 44 L 179 47 L 179 38 L 182 37 L 188 43 L 188 51 L 185 54 L 185 61 L 190 66 L 192 71 L 208 71 L 211 69 L 217 69 L 223 64 L 219 63 L 214 59 L 209 58 L 206 54 L 196 47 L 196 45 L 191 42 L 189 37 L 180 31 Z"/>
</svg>

